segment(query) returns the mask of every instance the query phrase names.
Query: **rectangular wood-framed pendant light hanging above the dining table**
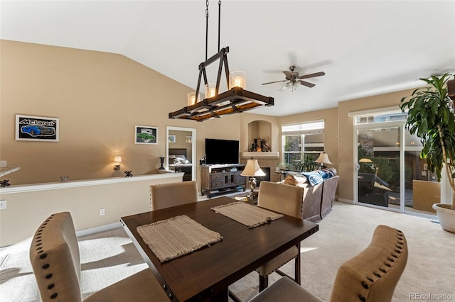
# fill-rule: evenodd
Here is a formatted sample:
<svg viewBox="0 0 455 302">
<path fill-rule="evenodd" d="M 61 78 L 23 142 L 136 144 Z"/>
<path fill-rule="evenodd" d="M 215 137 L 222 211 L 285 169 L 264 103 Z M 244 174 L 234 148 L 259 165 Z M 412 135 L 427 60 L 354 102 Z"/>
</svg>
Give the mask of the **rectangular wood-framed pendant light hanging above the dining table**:
<svg viewBox="0 0 455 302">
<path fill-rule="evenodd" d="M 205 1 L 205 61 L 199 65 L 199 78 L 196 92 L 188 94 L 188 106 L 169 113 L 169 118 L 182 118 L 193 121 L 205 121 L 209 118 L 241 113 L 262 106 L 273 106 L 274 98 L 262 96 L 246 90 L 245 72 L 229 72 L 229 46 L 220 49 L 220 16 L 221 1 L 218 1 L 218 52 L 207 58 L 208 49 L 208 0 Z M 219 61 L 218 61 L 219 60 Z M 219 62 L 218 76 L 215 83 L 209 83 L 205 68 L 213 62 Z M 220 93 L 220 82 L 225 69 L 228 91 Z M 204 81 L 205 99 L 200 99 L 200 84 Z"/>
</svg>

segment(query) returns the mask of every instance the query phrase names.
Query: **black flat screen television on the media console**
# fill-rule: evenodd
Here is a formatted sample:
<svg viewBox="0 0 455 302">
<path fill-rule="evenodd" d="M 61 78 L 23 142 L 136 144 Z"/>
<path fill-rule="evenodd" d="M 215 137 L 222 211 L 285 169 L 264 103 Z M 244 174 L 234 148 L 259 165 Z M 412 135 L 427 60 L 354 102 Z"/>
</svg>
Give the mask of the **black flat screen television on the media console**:
<svg viewBox="0 0 455 302">
<path fill-rule="evenodd" d="M 205 164 L 238 164 L 239 141 L 205 138 Z"/>
</svg>

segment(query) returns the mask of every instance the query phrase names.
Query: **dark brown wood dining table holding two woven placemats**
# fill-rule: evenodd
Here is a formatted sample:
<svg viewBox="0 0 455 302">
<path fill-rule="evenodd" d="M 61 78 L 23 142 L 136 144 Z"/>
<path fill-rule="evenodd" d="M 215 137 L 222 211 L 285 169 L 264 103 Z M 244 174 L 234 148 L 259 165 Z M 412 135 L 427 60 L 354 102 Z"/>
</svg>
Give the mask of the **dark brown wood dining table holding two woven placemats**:
<svg viewBox="0 0 455 302">
<path fill-rule="evenodd" d="M 232 202 L 235 200 L 229 197 L 211 198 L 121 218 L 122 227 L 170 301 L 228 301 L 228 286 L 293 245 L 300 246 L 301 240 L 319 230 L 316 223 L 286 215 L 248 228 L 210 209 Z M 161 263 L 137 233 L 137 227 L 180 215 L 220 233 L 223 240 Z"/>
</svg>

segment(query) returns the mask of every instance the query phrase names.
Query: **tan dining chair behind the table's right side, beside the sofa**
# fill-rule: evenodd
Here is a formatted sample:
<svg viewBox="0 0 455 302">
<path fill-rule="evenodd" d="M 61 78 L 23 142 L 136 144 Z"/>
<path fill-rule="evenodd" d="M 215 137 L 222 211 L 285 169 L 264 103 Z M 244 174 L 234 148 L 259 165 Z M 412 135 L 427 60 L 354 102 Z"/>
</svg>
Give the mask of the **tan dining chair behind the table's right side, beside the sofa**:
<svg viewBox="0 0 455 302">
<path fill-rule="evenodd" d="M 294 216 L 302 219 L 302 199 L 303 190 L 299 186 L 288 184 L 277 184 L 270 181 L 261 181 L 259 195 L 257 196 L 257 206 L 267 208 L 270 211 Z M 300 284 L 300 244 L 291 247 L 289 250 L 274 257 L 274 259 L 263 264 L 256 269 L 259 273 L 259 291 L 263 291 L 269 284 L 269 274 L 277 272 L 282 276 L 287 276 Z M 294 278 L 284 274 L 280 267 L 287 262 L 295 259 Z"/>
</svg>

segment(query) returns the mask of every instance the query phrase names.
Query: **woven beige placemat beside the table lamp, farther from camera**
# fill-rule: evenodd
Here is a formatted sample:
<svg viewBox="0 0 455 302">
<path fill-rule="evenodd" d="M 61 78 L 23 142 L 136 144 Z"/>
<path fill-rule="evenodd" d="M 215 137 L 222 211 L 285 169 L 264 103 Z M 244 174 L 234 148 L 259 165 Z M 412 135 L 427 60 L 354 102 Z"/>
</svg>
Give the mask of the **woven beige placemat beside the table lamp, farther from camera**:
<svg viewBox="0 0 455 302">
<path fill-rule="evenodd" d="M 215 213 L 222 214 L 242 223 L 242 225 L 247 225 L 248 228 L 255 228 L 283 217 L 283 214 L 252 206 L 241 201 L 215 206 L 212 210 Z"/>
</svg>

